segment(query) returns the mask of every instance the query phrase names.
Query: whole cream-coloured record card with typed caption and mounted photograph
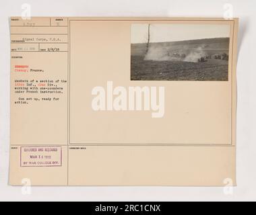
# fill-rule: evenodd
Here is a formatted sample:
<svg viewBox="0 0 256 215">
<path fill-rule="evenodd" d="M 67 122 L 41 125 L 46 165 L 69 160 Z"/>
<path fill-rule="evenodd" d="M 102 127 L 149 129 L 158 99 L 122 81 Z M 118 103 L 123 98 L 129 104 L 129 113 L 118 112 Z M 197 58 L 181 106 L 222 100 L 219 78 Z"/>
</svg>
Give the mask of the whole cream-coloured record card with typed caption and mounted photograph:
<svg viewBox="0 0 256 215">
<path fill-rule="evenodd" d="M 10 185 L 236 185 L 238 19 L 10 28 Z"/>
</svg>

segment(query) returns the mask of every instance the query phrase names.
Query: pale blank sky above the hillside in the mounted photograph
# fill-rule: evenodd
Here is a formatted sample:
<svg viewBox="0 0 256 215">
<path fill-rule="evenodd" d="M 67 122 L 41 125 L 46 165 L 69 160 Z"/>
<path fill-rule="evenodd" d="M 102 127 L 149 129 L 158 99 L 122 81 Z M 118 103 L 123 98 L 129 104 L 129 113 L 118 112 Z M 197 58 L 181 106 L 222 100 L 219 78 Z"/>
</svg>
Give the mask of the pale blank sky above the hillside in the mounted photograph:
<svg viewBox="0 0 256 215">
<path fill-rule="evenodd" d="M 203 38 L 222 38 L 230 36 L 229 25 L 201 24 L 151 24 L 150 42 L 170 42 L 196 40 Z M 131 25 L 131 43 L 148 40 L 148 24 Z"/>
</svg>

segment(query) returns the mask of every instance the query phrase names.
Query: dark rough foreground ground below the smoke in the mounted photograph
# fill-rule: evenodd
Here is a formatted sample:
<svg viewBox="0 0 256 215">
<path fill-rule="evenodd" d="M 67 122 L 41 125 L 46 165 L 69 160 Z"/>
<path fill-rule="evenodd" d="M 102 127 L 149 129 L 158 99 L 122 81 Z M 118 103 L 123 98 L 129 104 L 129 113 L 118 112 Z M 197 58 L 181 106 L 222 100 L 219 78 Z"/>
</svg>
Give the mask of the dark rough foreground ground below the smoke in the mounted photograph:
<svg viewBox="0 0 256 215">
<path fill-rule="evenodd" d="M 228 61 L 156 61 L 144 60 L 144 56 L 131 56 L 131 80 L 228 81 Z"/>
</svg>

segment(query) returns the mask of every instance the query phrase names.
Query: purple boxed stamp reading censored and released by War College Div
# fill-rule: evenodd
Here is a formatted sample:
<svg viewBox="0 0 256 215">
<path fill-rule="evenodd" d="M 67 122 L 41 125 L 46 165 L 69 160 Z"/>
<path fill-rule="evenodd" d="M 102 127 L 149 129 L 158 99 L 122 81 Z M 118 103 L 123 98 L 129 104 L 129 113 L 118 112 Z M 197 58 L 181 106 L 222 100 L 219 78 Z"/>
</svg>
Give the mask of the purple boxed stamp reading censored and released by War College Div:
<svg viewBox="0 0 256 215">
<path fill-rule="evenodd" d="M 21 167 L 61 167 L 61 146 L 22 146 L 20 147 Z"/>
</svg>

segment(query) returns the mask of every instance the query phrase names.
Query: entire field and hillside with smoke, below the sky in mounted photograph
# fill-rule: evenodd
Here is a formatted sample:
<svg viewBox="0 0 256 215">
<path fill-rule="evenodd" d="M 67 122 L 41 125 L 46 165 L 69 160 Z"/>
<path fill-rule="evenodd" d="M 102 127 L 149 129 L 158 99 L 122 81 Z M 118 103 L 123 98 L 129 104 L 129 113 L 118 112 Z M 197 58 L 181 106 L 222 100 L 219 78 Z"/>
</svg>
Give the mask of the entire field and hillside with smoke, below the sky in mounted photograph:
<svg viewBox="0 0 256 215">
<path fill-rule="evenodd" d="M 228 60 L 214 57 L 228 45 L 229 38 L 159 42 L 146 53 L 146 44 L 131 44 L 131 80 L 228 81 Z"/>
</svg>

